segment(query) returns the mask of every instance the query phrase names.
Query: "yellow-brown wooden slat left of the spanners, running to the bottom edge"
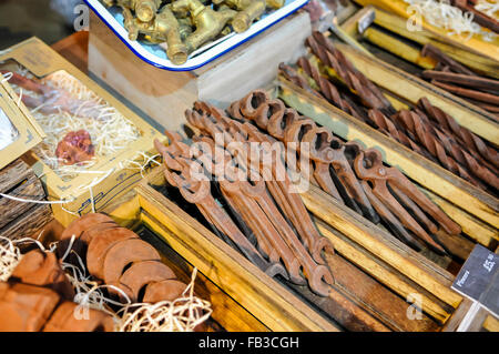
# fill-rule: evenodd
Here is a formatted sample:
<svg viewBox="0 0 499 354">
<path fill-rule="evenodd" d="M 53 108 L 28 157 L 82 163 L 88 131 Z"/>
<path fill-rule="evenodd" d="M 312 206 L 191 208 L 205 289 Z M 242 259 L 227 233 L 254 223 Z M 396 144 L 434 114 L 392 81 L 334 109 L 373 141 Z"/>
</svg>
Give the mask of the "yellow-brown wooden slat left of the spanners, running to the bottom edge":
<svg viewBox="0 0 499 354">
<path fill-rule="evenodd" d="M 154 218 L 165 225 L 154 231 L 268 328 L 338 331 L 145 182 L 138 188 L 141 206 L 151 215 L 144 214 L 144 222 L 152 224 Z"/>
</svg>

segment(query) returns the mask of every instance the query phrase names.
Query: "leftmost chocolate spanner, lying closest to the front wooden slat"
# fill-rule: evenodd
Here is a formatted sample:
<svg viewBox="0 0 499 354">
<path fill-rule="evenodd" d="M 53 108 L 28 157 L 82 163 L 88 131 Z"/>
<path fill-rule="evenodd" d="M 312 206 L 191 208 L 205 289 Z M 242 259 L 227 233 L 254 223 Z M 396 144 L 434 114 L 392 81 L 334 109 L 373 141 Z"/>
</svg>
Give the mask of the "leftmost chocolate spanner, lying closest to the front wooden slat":
<svg viewBox="0 0 499 354">
<path fill-rule="evenodd" d="M 244 236 L 237 225 L 234 224 L 228 214 L 216 203 L 211 195 L 208 180 L 189 180 L 191 179 L 189 171 L 181 174 L 174 172 L 174 170 L 176 170 L 175 168 L 180 168 L 181 171 L 184 169 L 187 170 L 194 162 L 181 162 L 180 156 L 176 156 L 175 159 L 172 155 L 164 155 L 164 163 L 166 165 L 164 173 L 169 183 L 176 186 L 187 202 L 196 204 L 197 209 L 205 216 L 205 219 L 215 225 L 217 230 L 228 236 L 251 262 L 253 262 L 262 271 L 266 272 L 269 276 L 281 274 L 284 277 L 287 277 L 287 274 L 282 265 L 276 263 L 269 264 L 261 256 L 258 251 L 253 246 L 253 244 L 251 244 L 246 236 Z M 172 166 L 175 168 L 172 169 Z M 196 169 L 196 171 L 200 170 L 200 168 Z"/>
</svg>

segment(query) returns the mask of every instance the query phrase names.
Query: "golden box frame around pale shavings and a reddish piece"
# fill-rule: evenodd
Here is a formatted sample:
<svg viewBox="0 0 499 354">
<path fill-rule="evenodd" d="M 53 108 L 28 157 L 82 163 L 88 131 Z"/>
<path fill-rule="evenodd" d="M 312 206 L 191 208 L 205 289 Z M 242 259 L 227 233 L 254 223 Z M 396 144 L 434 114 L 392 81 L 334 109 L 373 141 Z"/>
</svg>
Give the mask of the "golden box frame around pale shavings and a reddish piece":
<svg viewBox="0 0 499 354">
<path fill-rule="evenodd" d="M 32 150 L 22 156 L 24 162 L 28 163 L 42 181 L 49 200 L 72 200 L 64 205 L 52 204 L 52 212 L 59 222 L 67 226 L 78 215 L 91 212 L 92 195 L 94 196 L 94 208 L 96 211 L 100 211 L 139 183 L 141 173 L 134 168 L 123 168 L 121 162 L 143 160 L 143 156 L 139 152 L 147 153 L 153 151 L 154 139 L 164 140 L 164 136 L 159 131 L 38 38 L 33 37 L 2 51 L 0 61 L 6 62 L 6 68 L 19 63 L 38 78 L 44 78 L 54 72 L 64 71 L 70 77 L 79 80 L 84 87 L 93 91 L 110 105 L 114 107 L 141 132 L 141 136 L 131 142 L 126 149 L 106 158 L 99 159 L 92 166 L 91 170 L 93 171 L 109 171 L 108 176 L 92 188 L 92 192 L 86 186 L 95 181 L 95 174 L 80 173 L 73 179 L 64 181 Z M 23 104 L 20 104 L 20 107 L 27 110 Z M 71 213 L 67 212 L 67 210 L 71 211 Z"/>
</svg>

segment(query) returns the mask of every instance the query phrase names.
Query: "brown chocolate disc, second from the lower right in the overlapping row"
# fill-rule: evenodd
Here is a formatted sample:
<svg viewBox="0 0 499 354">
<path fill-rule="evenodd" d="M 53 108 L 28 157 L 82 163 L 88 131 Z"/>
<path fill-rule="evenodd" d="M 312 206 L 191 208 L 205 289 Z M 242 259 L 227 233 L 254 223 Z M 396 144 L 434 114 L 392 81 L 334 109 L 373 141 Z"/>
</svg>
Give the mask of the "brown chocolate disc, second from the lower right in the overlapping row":
<svg viewBox="0 0 499 354">
<path fill-rule="evenodd" d="M 166 264 L 159 261 L 142 261 L 133 263 L 120 277 L 119 284 L 132 291 L 132 302 L 140 302 L 144 286 L 170 279 L 174 280 L 176 275 Z"/>
</svg>

